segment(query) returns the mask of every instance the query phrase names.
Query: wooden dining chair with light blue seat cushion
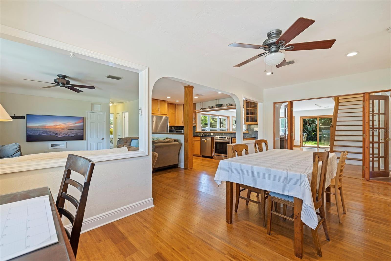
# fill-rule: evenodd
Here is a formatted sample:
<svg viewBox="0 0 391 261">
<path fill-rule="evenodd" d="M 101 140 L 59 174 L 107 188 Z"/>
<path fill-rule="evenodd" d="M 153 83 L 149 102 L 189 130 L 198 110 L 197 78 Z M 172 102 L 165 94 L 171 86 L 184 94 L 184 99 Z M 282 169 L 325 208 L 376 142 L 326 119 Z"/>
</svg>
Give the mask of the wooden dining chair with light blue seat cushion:
<svg viewBox="0 0 391 261">
<path fill-rule="evenodd" d="M 330 152 L 314 152 L 312 153 L 312 177 L 311 177 L 311 192 L 312 192 L 312 199 L 314 201 L 315 210 L 319 208 L 319 214 L 320 220 L 318 221 L 318 224 L 315 229 L 311 228 L 312 231 L 312 237 L 314 239 L 314 243 L 316 246 L 316 252 L 318 256 L 322 256 L 322 250 L 320 248 L 320 242 L 319 242 L 319 236 L 317 234 L 317 229 L 320 225 L 323 225 L 323 230 L 325 231 L 326 239 L 327 241 L 330 241 L 330 236 L 328 235 L 328 229 L 326 225 L 326 216 L 325 216 L 325 204 L 323 203 L 324 198 L 323 195 L 325 194 L 325 185 L 326 185 L 326 173 L 327 173 L 327 164 L 328 164 L 328 156 Z M 318 168 L 319 168 L 319 162 L 322 163 L 321 165 L 321 172 L 320 172 L 320 178 L 319 178 L 319 189 L 317 190 L 317 174 L 318 174 Z M 289 219 L 291 221 L 294 221 L 292 217 L 287 216 L 286 206 L 294 207 L 293 204 L 294 197 L 283 195 L 276 192 L 270 192 L 269 198 L 267 200 L 268 202 L 268 219 L 267 219 L 267 234 L 270 235 L 271 230 L 271 217 L 272 214 L 276 214 L 277 216 L 283 217 L 283 219 Z M 273 211 L 272 209 L 272 203 L 278 202 L 283 204 L 283 214 L 280 214 L 278 212 Z"/>
</svg>

